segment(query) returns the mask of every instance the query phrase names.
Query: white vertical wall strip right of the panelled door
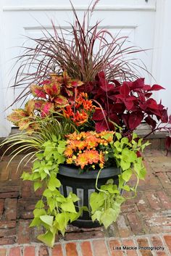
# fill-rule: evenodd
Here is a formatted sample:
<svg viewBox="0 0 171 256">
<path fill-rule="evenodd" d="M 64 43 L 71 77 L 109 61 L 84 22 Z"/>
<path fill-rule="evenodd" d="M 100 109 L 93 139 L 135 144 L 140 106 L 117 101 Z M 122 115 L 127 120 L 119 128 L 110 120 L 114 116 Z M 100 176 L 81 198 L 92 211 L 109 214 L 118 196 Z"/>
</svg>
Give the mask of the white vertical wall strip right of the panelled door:
<svg viewBox="0 0 171 256">
<path fill-rule="evenodd" d="M 171 115 L 171 1 L 157 1 L 156 31 L 154 40 L 153 75 L 156 82 L 166 88 L 157 99 L 168 107 Z"/>
</svg>

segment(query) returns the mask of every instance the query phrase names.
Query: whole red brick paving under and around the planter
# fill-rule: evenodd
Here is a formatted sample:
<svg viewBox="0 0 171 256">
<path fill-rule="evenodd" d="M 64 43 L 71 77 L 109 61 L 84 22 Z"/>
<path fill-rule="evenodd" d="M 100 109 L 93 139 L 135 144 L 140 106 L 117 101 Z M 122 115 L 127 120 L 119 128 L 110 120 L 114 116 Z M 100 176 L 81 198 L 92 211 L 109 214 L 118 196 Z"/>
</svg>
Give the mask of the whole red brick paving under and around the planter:
<svg viewBox="0 0 171 256">
<path fill-rule="evenodd" d="M 29 166 L 21 166 L 16 173 L 22 156 L 7 169 L 9 157 L 5 157 L 0 162 L 0 256 L 171 255 L 170 155 L 146 151 L 146 181 L 141 181 L 138 197 L 122 206 L 117 223 L 107 230 L 69 226 L 64 238 L 57 237 L 54 249 L 39 243 L 36 236 L 40 231 L 28 227 L 36 200 L 41 196 L 41 191 L 33 193 L 30 182 L 20 181 L 20 173 Z M 124 249 L 130 246 L 160 248 Z"/>
</svg>

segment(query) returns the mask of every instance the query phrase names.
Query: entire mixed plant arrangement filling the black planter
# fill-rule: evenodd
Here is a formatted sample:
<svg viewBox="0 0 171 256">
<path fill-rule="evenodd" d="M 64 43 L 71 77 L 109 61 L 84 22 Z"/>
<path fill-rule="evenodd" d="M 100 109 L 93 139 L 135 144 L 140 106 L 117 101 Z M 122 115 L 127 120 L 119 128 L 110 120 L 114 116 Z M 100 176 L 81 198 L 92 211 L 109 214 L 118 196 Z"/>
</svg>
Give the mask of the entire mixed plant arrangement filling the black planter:
<svg viewBox="0 0 171 256">
<path fill-rule="evenodd" d="M 35 47 L 25 48 L 14 87 L 27 83 L 28 91 L 22 91 L 16 100 L 28 94 L 31 99 L 7 117 L 21 132 L 2 143 L 8 144 L 8 149 L 17 146 L 12 159 L 31 149 L 25 158 L 33 161 L 32 172 L 23 172 L 22 179 L 33 181 L 35 191 L 41 187 L 44 191 L 30 226 L 43 226 L 45 233 L 38 239 L 50 247 L 55 235 L 64 234 L 67 224 L 80 218 L 83 211 L 107 228 L 120 214 L 122 202 L 135 196 L 138 181 L 146 175 L 141 152 L 149 144 L 134 133 L 141 122 L 151 126 L 151 133 L 170 132 L 167 109 L 151 97 L 163 87 L 146 85 L 144 78 L 138 78 L 132 63 L 123 58 L 125 51 L 120 46 L 125 38 L 122 41 L 107 30 L 97 30 L 99 22 L 89 26 L 94 7 L 88 7 L 82 24 L 72 7 L 72 41 L 64 38 L 62 28 L 59 36 L 52 23 L 54 36 L 48 32 L 45 38 L 34 39 Z M 96 41 L 100 44 L 95 54 Z M 139 50 L 126 49 L 128 54 L 135 51 Z M 30 70 L 32 66 L 36 72 Z M 168 150 L 170 136 L 166 145 Z M 88 205 L 76 207 L 77 194 L 70 192 L 66 197 L 61 193 L 58 176 L 62 165 L 76 168 L 78 176 L 98 171 L 96 191 L 89 201 L 91 210 Z M 99 187 L 106 168 L 113 168 L 113 173 L 119 169 L 117 182 L 109 177 Z M 130 184 L 133 176 L 136 182 Z M 130 195 L 126 197 L 124 191 Z"/>
</svg>

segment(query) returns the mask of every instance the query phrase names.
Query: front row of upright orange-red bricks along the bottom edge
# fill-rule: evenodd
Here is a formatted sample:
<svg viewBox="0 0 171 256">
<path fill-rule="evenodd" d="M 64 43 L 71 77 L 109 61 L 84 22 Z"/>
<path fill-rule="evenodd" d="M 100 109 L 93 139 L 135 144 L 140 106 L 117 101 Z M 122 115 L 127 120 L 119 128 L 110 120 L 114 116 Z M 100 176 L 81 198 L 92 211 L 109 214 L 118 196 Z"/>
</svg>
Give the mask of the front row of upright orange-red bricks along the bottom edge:
<svg viewBox="0 0 171 256">
<path fill-rule="evenodd" d="M 131 249 L 132 247 L 132 249 Z M 129 249 L 128 249 L 129 248 Z M 12 244 L 0 247 L 1 256 L 168 256 L 171 234 L 137 236 L 129 239 L 91 239 L 55 244 L 53 249 L 41 244 Z"/>
</svg>

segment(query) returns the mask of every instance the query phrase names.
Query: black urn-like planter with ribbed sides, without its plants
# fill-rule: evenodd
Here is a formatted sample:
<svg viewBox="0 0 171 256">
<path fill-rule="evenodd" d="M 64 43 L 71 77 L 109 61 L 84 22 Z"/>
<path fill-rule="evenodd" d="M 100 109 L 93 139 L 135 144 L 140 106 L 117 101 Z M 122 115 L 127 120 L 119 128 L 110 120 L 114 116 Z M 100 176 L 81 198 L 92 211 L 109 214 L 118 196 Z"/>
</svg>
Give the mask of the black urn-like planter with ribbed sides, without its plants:
<svg viewBox="0 0 171 256">
<path fill-rule="evenodd" d="M 88 173 L 78 174 L 78 168 L 72 168 L 67 165 L 59 166 L 58 178 L 62 183 L 60 187 L 60 192 L 67 197 L 70 191 L 80 198 L 78 202 L 75 203 L 75 206 L 87 206 L 90 210 L 89 198 L 91 193 L 96 191 L 95 183 L 96 176 L 99 170 L 91 170 Z M 109 178 L 114 179 L 114 183 L 118 184 L 118 174 L 120 174 L 120 168 L 110 167 L 104 168 L 101 170 L 98 187 L 104 185 Z M 80 216 L 78 220 L 72 222 L 72 225 L 82 227 L 82 228 L 93 228 L 100 226 L 98 222 L 93 222 L 89 212 L 83 212 L 83 215 Z"/>
</svg>

